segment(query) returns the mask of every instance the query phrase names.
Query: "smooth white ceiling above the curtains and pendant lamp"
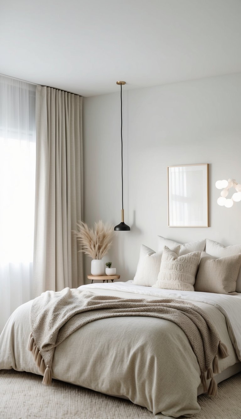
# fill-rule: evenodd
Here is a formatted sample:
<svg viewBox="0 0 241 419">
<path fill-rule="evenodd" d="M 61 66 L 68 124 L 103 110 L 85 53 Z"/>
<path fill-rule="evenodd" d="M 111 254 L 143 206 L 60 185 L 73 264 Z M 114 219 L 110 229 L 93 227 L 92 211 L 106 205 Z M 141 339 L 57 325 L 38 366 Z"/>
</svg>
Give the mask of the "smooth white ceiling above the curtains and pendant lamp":
<svg viewBox="0 0 241 419">
<path fill-rule="evenodd" d="M 82 96 L 241 72 L 241 0 L 2 0 L 0 73 Z"/>
</svg>

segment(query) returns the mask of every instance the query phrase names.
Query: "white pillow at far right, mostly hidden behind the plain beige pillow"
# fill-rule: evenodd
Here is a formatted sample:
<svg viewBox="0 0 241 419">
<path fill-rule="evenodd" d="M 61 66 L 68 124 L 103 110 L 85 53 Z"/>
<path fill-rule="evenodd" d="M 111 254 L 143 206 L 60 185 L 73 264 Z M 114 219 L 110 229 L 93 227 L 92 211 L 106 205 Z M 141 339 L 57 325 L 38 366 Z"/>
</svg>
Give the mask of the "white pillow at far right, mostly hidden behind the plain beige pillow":
<svg viewBox="0 0 241 419">
<path fill-rule="evenodd" d="M 217 241 L 206 239 L 206 253 L 215 258 L 223 258 L 225 256 L 232 256 L 241 253 L 241 245 L 236 244 L 234 246 L 223 246 Z M 236 292 L 241 292 L 241 269 L 238 273 L 238 279 L 236 282 Z"/>
</svg>

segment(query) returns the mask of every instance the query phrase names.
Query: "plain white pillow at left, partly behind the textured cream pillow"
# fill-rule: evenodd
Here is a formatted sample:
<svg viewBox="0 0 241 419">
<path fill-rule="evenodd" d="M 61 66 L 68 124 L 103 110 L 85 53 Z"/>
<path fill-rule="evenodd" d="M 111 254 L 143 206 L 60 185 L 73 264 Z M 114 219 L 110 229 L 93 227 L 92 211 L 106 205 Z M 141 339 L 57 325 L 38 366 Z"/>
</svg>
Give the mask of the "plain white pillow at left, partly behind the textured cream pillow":
<svg viewBox="0 0 241 419">
<path fill-rule="evenodd" d="M 174 248 L 176 256 L 178 256 L 180 246 Z M 162 261 L 162 252 L 154 252 L 147 246 L 141 245 L 139 261 L 134 277 L 134 284 L 151 287 L 157 281 Z"/>
</svg>

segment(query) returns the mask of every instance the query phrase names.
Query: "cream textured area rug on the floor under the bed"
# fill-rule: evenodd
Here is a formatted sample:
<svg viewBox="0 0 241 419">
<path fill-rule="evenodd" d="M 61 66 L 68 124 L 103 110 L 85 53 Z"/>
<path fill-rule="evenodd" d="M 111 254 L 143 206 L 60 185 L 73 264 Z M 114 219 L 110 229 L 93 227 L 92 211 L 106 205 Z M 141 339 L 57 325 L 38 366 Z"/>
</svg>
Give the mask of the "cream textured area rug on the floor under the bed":
<svg viewBox="0 0 241 419">
<path fill-rule="evenodd" d="M 218 396 L 199 396 L 201 406 L 194 419 L 240 419 L 241 373 L 218 384 Z M 157 415 L 156 417 L 167 418 Z M 154 419 L 147 409 L 128 400 L 106 396 L 86 388 L 14 370 L 0 371 L 1 419 Z"/>
</svg>

